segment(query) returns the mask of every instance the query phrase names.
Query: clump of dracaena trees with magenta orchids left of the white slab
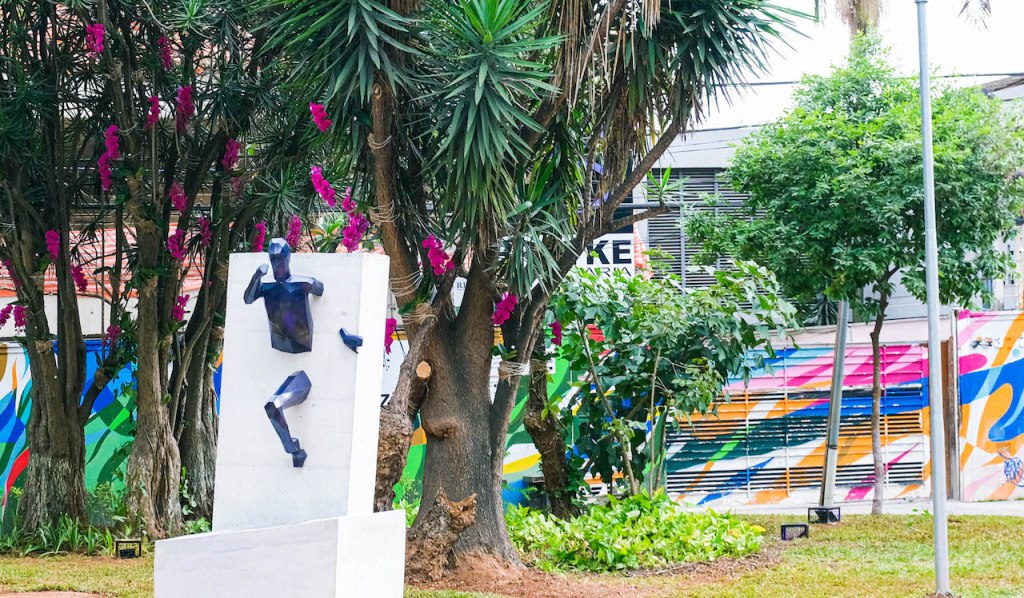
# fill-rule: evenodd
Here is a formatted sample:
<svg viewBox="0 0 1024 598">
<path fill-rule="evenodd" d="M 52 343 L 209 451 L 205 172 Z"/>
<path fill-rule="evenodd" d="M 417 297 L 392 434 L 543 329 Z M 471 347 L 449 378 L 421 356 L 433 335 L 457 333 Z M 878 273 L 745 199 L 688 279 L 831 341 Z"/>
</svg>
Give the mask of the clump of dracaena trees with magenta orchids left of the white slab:
<svg viewBox="0 0 1024 598">
<path fill-rule="evenodd" d="M 106 356 L 108 369 L 119 367 L 130 341 L 138 360 L 129 505 L 151 538 L 176 531 L 184 466 L 197 514 L 210 514 L 212 372 L 226 258 L 295 228 L 289 217 L 304 213 L 308 182 L 301 189 L 282 182 L 288 170 L 275 165 L 317 152 L 308 112 L 302 118 L 304 108 L 283 99 L 283 71 L 262 53 L 266 36 L 248 6 L 97 0 L 2 7 L 0 143 L 5 216 L 13 224 L 4 252 L 22 283 L 34 373 L 25 503 L 39 515 L 30 521 L 84 513 L 81 424 L 90 395 L 79 403 L 84 347 L 70 243 L 73 227 L 82 236 L 83 204 L 113 214 L 106 225 L 118 230 L 114 319 L 124 297 L 135 299 L 137 317 L 123 323 Z M 55 357 L 39 275 L 50 261 L 60 302 Z M 187 291 L 190 266 L 202 282 Z M 190 313 L 189 294 L 197 295 Z"/>
</svg>

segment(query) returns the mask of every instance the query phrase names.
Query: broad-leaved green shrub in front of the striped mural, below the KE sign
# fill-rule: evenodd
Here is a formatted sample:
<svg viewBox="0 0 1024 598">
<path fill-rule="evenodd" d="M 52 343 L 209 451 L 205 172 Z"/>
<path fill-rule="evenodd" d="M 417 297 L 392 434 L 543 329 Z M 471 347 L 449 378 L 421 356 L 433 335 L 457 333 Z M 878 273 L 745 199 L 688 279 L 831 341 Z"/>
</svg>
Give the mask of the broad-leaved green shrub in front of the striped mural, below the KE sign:
<svg viewBox="0 0 1024 598">
<path fill-rule="evenodd" d="M 644 468 L 656 478 L 666 425 L 708 413 L 728 379 L 764 365 L 758 349 L 773 354 L 773 331 L 793 324 L 793 306 L 764 268 L 739 262 L 714 274 L 708 289 L 684 291 L 675 275 L 582 270 L 552 298 L 564 331 L 559 355 L 583 375 L 557 417 L 590 473 L 611 480 L 629 454 L 638 480 Z M 555 415 L 561 398 L 546 411 Z M 647 442 L 651 429 L 657 437 Z"/>
</svg>

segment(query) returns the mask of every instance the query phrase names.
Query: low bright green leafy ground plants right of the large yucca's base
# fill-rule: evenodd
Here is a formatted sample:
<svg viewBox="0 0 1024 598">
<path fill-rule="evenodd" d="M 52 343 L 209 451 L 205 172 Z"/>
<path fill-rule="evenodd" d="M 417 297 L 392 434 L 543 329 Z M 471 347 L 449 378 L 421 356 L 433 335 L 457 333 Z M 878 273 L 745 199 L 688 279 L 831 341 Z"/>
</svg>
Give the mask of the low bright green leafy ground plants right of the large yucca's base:
<svg viewBox="0 0 1024 598">
<path fill-rule="evenodd" d="M 663 493 L 611 498 L 570 520 L 512 507 L 512 543 L 544 570 L 613 571 L 711 561 L 761 549 L 764 528 L 732 515 L 687 511 Z"/>
</svg>

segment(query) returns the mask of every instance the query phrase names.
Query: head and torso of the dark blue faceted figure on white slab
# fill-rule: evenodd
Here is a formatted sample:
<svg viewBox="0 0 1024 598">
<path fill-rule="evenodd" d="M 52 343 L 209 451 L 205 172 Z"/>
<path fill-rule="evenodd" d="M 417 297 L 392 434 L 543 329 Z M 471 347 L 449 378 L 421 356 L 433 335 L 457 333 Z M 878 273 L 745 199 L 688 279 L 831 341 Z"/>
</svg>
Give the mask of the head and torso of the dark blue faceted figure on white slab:
<svg viewBox="0 0 1024 598">
<path fill-rule="evenodd" d="M 324 294 L 324 283 L 309 276 L 293 276 L 289 267 L 292 250 L 284 239 L 270 241 L 267 249 L 273 282 L 264 283 L 266 264 L 253 274 L 246 289 L 245 302 L 262 298 L 270 322 L 270 345 L 286 353 L 304 353 L 313 348 L 313 319 L 309 295 Z"/>
</svg>

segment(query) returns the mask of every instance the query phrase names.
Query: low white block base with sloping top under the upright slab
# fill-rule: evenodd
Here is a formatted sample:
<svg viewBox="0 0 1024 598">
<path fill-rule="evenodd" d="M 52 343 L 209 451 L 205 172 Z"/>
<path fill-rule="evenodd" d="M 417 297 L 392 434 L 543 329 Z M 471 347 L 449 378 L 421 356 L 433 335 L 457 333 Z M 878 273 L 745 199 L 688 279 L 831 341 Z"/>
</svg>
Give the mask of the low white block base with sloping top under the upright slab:
<svg viewBox="0 0 1024 598">
<path fill-rule="evenodd" d="M 404 511 L 157 543 L 157 598 L 399 598 Z"/>
</svg>

